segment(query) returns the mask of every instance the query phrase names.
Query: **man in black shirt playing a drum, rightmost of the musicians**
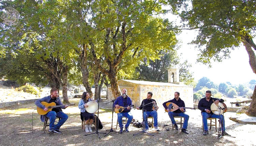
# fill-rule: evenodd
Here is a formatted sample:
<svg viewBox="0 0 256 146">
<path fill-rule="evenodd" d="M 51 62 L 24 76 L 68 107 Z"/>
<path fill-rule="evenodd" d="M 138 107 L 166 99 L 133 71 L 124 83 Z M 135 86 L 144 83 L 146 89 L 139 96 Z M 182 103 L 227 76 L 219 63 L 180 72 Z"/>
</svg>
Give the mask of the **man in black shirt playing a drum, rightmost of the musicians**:
<svg viewBox="0 0 256 146">
<path fill-rule="evenodd" d="M 219 102 L 224 102 L 223 99 L 218 99 L 218 98 L 212 98 L 212 92 L 210 90 L 206 91 L 205 97 L 200 99 L 198 103 L 198 109 L 201 110 L 201 115 L 203 118 L 203 135 L 208 135 L 208 125 L 207 125 L 207 118 L 213 117 L 213 118 L 218 118 L 221 120 L 221 123 L 223 124 L 222 126 L 222 134 L 223 135 L 229 135 L 227 132 L 225 132 L 225 120 L 223 115 L 216 115 L 211 111 L 211 105 L 214 103 L 215 105 L 218 105 Z"/>
</svg>

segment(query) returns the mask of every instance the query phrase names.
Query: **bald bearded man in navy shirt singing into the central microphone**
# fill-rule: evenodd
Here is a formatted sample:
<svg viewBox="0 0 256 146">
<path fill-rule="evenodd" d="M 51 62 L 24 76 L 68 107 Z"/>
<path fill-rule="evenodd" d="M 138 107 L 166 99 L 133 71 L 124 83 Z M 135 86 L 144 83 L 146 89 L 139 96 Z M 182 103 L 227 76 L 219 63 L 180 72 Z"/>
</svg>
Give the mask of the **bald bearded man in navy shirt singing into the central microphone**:
<svg viewBox="0 0 256 146">
<path fill-rule="evenodd" d="M 120 127 L 120 133 L 123 133 L 123 117 L 128 118 L 127 123 L 125 124 L 125 131 L 129 132 L 129 125 L 132 121 L 132 114 L 131 114 L 131 109 L 132 109 L 132 101 L 131 98 L 126 94 L 127 90 L 122 89 L 122 96 L 119 96 L 116 98 L 114 102 L 114 107 L 115 108 L 120 108 L 120 106 L 125 107 L 124 110 L 120 113 L 117 114 L 117 121 Z"/>
</svg>

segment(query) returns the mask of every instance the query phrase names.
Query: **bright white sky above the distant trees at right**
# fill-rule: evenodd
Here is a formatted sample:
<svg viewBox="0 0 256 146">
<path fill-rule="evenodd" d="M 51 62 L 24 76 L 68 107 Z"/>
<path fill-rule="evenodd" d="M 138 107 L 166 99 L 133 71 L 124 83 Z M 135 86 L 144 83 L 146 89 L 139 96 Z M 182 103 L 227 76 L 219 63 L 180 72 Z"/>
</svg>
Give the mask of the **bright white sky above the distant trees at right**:
<svg viewBox="0 0 256 146">
<path fill-rule="evenodd" d="M 249 65 L 249 57 L 245 47 L 241 44 L 230 53 L 230 58 L 224 59 L 222 62 L 212 62 L 212 68 L 202 63 L 196 63 L 199 51 L 195 45 L 187 44 L 196 37 L 197 33 L 191 30 L 184 30 L 177 38 L 182 41 L 178 54 L 181 60 L 187 59 L 192 64 L 191 72 L 193 77 L 199 80 L 207 77 L 215 84 L 229 81 L 231 84 L 244 84 L 252 79 L 256 80 L 256 74 L 253 73 Z M 254 42 L 256 40 L 254 39 Z M 256 53 L 256 51 L 254 51 Z"/>
</svg>

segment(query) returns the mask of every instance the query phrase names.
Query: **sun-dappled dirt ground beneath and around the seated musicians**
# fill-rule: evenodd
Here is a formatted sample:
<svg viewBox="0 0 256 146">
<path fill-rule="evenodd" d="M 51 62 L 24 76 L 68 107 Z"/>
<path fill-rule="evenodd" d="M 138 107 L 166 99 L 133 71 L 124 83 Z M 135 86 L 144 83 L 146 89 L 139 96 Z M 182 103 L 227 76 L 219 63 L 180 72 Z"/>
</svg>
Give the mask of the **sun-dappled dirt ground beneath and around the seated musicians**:
<svg viewBox="0 0 256 146">
<path fill-rule="evenodd" d="M 59 145 L 59 146 L 74 146 L 74 145 L 96 145 L 96 146 L 126 146 L 126 145 L 179 145 L 179 146 L 253 146 L 256 145 L 255 134 L 256 125 L 243 125 L 229 120 L 229 117 L 239 117 L 236 113 L 225 113 L 226 131 L 234 136 L 217 137 L 217 132 L 213 128 L 207 136 L 202 135 L 202 118 L 199 110 L 189 110 L 186 113 L 190 116 L 188 121 L 187 131 L 189 134 L 184 134 L 181 131 L 176 132 L 170 125 L 168 114 L 163 109 L 158 110 L 159 132 L 154 131 L 154 128 L 149 132 L 154 134 L 151 136 L 146 133 L 133 135 L 141 131 L 141 128 L 136 128 L 130 125 L 130 132 L 119 134 L 111 132 L 108 135 L 99 133 L 86 135 L 86 132 L 81 129 L 80 110 L 77 105 L 79 99 L 70 99 L 71 103 L 76 103 L 73 107 L 68 107 L 63 112 L 69 115 L 69 119 L 61 127 L 61 134 L 54 135 L 43 133 L 43 123 L 40 121 L 39 114 L 34 110 L 36 107 L 33 103 L 26 105 L 18 105 L 6 109 L 0 109 L 0 145 Z M 100 103 L 99 118 L 103 123 L 103 129 L 99 132 L 107 133 L 111 129 L 112 110 L 111 105 Z M 132 109 L 133 118 L 142 121 L 141 110 Z M 32 118 L 33 117 L 33 118 Z M 33 125 L 32 125 L 33 121 Z M 114 113 L 113 129 L 116 128 L 117 115 Z M 33 127 L 33 131 L 32 131 Z M 170 130 L 166 130 L 169 128 Z M 48 127 L 47 129 L 48 130 Z M 117 129 L 119 131 L 119 129 Z M 95 130 L 94 130 L 95 132 Z"/>
</svg>

